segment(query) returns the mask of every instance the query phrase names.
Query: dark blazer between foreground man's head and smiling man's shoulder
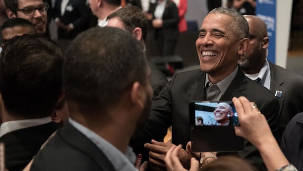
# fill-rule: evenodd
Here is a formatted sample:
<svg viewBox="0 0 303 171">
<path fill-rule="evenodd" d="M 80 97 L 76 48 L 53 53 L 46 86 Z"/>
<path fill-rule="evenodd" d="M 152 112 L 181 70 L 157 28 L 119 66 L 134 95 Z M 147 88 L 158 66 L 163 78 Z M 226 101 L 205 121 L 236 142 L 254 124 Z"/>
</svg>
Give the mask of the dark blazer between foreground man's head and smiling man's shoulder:
<svg viewBox="0 0 303 171">
<path fill-rule="evenodd" d="M 167 83 L 167 78 L 163 72 L 151 61 L 148 61 L 150 68 L 150 84 L 154 90 L 153 99 L 155 99 Z"/>
</svg>

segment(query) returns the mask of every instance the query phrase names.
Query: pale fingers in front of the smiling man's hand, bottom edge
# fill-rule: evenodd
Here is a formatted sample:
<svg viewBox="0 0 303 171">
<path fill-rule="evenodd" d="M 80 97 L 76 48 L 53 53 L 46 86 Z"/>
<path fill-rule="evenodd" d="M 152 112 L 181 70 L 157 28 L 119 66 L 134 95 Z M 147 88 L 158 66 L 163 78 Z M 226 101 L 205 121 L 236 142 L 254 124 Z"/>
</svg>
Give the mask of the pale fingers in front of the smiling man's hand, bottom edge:
<svg viewBox="0 0 303 171">
<path fill-rule="evenodd" d="M 186 171 L 186 169 L 182 166 L 178 158 L 178 153 L 181 147 L 182 147 L 181 145 L 172 146 L 166 153 L 164 161 L 168 171 Z M 192 157 L 190 160 L 189 171 L 196 171 L 198 170 L 198 168 L 199 168 L 199 162 L 194 157 Z"/>
</svg>

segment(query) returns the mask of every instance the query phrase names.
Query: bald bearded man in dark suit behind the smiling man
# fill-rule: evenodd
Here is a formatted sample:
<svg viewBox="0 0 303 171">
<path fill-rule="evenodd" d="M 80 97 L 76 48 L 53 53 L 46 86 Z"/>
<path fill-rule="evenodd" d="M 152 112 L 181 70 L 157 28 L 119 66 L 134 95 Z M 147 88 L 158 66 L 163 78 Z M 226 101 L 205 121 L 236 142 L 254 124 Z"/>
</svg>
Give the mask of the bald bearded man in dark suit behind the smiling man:
<svg viewBox="0 0 303 171">
<path fill-rule="evenodd" d="M 266 23 L 254 15 L 245 15 L 250 45 L 238 60 L 247 77 L 269 89 L 279 100 L 279 132 L 297 113 L 303 111 L 303 76 L 267 60 L 269 38 Z"/>
</svg>

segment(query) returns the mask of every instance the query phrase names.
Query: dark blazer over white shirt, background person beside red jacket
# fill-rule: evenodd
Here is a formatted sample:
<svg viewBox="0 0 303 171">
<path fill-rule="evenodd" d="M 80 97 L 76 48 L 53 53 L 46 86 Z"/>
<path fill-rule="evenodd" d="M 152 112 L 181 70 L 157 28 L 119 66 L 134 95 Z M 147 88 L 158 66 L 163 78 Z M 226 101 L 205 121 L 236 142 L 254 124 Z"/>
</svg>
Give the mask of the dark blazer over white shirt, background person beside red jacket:
<svg viewBox="0 0 303 171">
<path fill-rule="evenodd" d="M 157 6 L 153 6 L 150 9 L 150 13 L 154 14 Z M 154 16 L 155 19 L 155 16 Z M 167 1 L 166 7 L 162 16 L 163 26 L 162 28 L 155 29 L 155 37 L 158 36 L 159 31 L 163 31 L 165 40 L 177 40 L 179 35 L 178 23 L 179 12 L 176 4 L 172 1 Z"/>
</svg>

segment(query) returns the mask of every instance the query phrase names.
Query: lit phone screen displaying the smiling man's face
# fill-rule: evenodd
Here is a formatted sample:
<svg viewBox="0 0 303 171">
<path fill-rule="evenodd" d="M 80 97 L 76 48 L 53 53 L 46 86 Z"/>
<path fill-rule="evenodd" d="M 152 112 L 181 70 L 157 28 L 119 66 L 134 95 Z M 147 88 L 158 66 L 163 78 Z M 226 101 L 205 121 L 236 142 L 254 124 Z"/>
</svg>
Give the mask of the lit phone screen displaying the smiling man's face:
<svg viewBox="0 0 303 171">
<path fill-rule="evenodd" d="M 238 126 L 238 114 L 232 102 L 194 102 L 196 126 Z"/>
</svg>

